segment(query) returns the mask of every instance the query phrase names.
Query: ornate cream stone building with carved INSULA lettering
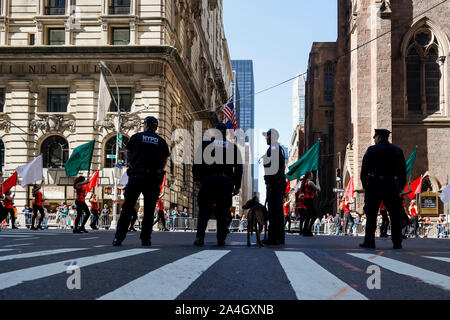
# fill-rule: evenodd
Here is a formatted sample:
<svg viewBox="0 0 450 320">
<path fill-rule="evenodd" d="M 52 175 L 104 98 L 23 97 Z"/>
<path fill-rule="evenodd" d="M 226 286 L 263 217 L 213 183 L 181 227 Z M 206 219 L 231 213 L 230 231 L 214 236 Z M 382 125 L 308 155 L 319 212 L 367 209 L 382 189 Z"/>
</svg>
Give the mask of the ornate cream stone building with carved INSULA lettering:
<svg viewBox="0 0 450 320">
<path fill-rule="evenodd" d="M 230 96 L 232 80 L 222 0 L 2 0 L 0 8 L 3 171 L 8 177 L 42 153 L 47 204 L 73 202 L 63 164 L 90 140 L 101 200 L 111 201 L 108 188 L 122 174 L 108 158 L 115 154 L 115 106 L 101 125 L 96 121 L 100 60 L 117 79 L 124 142 L 152 115 L 169 145 L 183 146 L 172 150 L 182 155 L 194 147 L 195 121 L 207 129 L 221 118 L 216 107 Z M 172 139 L 175 129 L 191 138 Z M 165 207 L 194 210 L 191 168 L 168 164 Z M 29 190 L 17 186 L 16 194 L 20 208 Z"/>
</svg>

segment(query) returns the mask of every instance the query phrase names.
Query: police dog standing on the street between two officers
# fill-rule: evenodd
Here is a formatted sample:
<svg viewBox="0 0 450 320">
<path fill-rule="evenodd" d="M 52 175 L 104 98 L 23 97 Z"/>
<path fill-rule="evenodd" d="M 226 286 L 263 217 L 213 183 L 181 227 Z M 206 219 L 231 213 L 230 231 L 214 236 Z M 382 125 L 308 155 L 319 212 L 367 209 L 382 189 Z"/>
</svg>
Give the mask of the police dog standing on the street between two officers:
<svg viewBox="0 0 450 320">
<path fill-rule="evenodd" d="M 256 240 L 260 247 L 264 247 L 260 235 L 262 229 L 267 221 L 268 212 L 265 206 L 263 206 L 258 201 L 258 197 L 253 197 L 248 200 L 247 203 L 242 207 L 242 209 L 247 210 L 247 247 L 250 247 L 250 236 L 253 232 L 256 232 Z"/>
</svg>

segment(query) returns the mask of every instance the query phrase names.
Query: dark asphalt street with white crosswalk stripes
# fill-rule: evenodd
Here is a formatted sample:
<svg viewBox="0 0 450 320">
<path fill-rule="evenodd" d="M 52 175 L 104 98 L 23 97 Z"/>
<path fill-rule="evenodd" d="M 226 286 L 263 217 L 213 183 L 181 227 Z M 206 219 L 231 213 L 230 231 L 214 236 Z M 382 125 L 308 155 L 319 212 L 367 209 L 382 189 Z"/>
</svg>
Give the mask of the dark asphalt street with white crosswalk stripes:
<svg viewBox="0 0 450 320">
<path fill-rule="evenodd" d="M 209 233 L 139 232 L 112 247 L 112 231 L 0 232 L 0 300 L 448 300 L 450 241 L 408 239 L 393 250 L 377 239 L 287 235 L 286 245 L 246 246 L 233 233 L 218 247 Z M 379 272 L 378 272 L 378 271 Z M 78 278 L 76 278 L 78 277 Z"/>
</svg>

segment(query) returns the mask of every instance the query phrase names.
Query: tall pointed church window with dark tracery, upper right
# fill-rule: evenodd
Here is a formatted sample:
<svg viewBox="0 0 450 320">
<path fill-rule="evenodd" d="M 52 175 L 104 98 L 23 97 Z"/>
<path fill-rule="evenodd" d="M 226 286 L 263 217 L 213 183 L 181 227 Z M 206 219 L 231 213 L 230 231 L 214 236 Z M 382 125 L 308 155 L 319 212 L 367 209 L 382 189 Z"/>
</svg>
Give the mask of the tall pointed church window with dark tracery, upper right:
<svg viewBox="0 0 450 320">
<path fill-rule="evenodd" d="M 405 58 L 408 111 L 439 111 L 442 73 L 435 35 L 427 28 L 417 30 L 408 44 Z"/>
</svg>

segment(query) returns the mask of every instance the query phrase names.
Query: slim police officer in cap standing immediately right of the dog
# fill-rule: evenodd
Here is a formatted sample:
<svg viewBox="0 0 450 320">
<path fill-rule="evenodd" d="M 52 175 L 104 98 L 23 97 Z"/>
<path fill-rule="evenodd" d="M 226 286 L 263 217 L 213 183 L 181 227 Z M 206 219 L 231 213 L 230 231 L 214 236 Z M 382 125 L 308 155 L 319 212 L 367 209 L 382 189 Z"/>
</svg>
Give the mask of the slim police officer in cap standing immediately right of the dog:
<svg viewBox="0 0 450 320">
<path fill-rule="evenodd" d="M 285 152 L 278 143 L 280 134 L 275 129 L 264 132 L 269 149 L 263 157 L 264 181 L 266 183 L 266 201 L 269 212 L 269 229 L 264 244 L 279 245 L 285 243 L 283 196 L 286 192 Z"/>
</svg>

